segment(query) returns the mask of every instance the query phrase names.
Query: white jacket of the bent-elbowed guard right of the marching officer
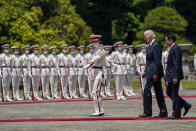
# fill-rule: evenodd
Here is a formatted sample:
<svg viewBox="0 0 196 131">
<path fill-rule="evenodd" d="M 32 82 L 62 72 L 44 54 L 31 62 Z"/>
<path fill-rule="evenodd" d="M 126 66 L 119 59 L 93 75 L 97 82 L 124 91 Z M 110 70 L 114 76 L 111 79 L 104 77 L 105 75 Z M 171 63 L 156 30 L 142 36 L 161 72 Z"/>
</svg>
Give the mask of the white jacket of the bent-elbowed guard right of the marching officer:
<svg viewBox="0 0 196 131">
<path fill-rule="evenodd" d="M 116 75 L 127 74 L 126 69 L 126 54 L 123 51 L 115 51 L 111 54 L 113 73 Z"/>
</svg>

